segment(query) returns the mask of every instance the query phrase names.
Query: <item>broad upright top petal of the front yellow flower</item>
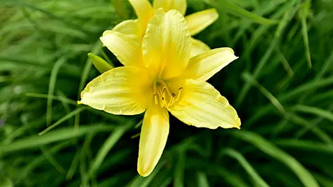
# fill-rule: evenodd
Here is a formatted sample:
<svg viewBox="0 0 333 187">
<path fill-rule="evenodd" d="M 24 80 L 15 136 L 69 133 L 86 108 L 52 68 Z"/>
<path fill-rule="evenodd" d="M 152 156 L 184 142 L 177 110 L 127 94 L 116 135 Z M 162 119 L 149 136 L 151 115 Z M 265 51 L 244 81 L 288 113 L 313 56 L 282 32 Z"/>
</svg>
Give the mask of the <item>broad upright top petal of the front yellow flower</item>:
<svg viewBox="0 0 333 187">
<path fill-rule="evenodd" d="M 158 78 L 180 75 L 191 56 L 191 37 L 180 12 L 158 9 L 148 23 L 142 49 L 144 65 Z"/>
</svg>

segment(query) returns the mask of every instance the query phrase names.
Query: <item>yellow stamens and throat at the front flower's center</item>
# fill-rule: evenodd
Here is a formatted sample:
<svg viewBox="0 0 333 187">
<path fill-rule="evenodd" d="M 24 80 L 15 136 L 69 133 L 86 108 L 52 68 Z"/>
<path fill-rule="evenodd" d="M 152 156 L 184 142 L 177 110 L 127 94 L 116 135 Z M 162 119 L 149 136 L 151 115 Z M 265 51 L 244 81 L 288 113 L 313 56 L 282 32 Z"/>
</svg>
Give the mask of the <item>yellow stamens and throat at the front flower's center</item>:
<svg viewBox="0 0 333 187">
<path fill-rule="evenodd" d="M 165 82 L 157 80 L 154 82 L 153 91 L 155 104 L 170 109 L 179 100 L 182 87 L 180 87 L 178 93 L 175 94 L 174 92 L 171 92 Z"/>
</svg>

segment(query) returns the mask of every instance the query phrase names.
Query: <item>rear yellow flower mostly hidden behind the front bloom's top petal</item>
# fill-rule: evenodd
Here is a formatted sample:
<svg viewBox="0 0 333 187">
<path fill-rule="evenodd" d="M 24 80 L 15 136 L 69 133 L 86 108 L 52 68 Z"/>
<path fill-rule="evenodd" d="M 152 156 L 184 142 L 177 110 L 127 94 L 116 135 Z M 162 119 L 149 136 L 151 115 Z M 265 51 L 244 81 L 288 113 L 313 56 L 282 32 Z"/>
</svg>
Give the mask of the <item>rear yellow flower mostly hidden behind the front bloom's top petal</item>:
<svg viewBox="0 0 333 187">
<path fill-rule="evenodd" d="M 186 0 L 154 0 L 153 6 L 148 0 L 129 0 L 132 4 L 135 12 L 137 13 L 137 19 L 130 19 L 122 21 L 120 24 L 115 26 L 112 30 L 119 33 L 123 33 L 128 37 L 137 39 L 138 42 L 142 41 L 144 32 L 146 31 L 148 21 L 153 17 L 155 10 L 163 8 L 164 12 L 175 9 L 185 15 L 187 2 Z M 219 17 L 216 9 L 207 9 L 185 17 L 189 26 L 189 33 L 196 35 L 201 30 L 210 26 Z M 110 30 L 106 30 L 103 36 L 108 35 Z M 205 51 L 210 51 L 210 47 L 198 39 L 191 38 L 192 49 L 191 56 L 198 55 Z"/>
</svg>

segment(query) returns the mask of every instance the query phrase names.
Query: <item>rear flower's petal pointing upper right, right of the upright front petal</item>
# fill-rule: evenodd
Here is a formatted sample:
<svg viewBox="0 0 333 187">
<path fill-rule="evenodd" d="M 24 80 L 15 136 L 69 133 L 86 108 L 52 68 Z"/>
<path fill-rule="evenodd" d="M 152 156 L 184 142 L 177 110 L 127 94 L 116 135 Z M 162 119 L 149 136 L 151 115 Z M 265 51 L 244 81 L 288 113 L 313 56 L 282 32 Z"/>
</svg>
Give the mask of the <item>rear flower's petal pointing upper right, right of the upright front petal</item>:
<svg viewBox="0 0 333 187">
<path fill-rule="evenodd" d="M 187 24 L 189 24 L 189 32 L 191 35 L 200 33 L 218 18 L 219 13 L 217 13 L 215 8 L 195 12 L 185 17 Z"/>
</svg>

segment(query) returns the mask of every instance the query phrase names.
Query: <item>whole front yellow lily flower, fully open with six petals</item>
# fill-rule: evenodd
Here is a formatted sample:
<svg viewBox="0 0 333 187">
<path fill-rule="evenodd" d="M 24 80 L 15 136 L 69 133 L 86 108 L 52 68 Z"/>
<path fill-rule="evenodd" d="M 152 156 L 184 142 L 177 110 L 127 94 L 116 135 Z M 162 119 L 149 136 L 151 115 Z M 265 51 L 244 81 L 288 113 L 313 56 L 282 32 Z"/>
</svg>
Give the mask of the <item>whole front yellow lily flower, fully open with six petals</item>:
<svg viewBox="0 0 333 187">
<path fill-rule="evenodd" d="M 240 127 L 235 109 L 205 82 L 237 59 L 234 51 L 216 48 L 191 57 L 189 29 L 177 10 L 157 10 L 142 45 L 116 31 L 101 41 L 124 66 L 89 82 L 79 103 L 111 114 L 146 112 L 139 141 L 140 175 L 148 176 L 162 155 L 169 134 L 169 112 L 195 127 Z"/>
</svg>

